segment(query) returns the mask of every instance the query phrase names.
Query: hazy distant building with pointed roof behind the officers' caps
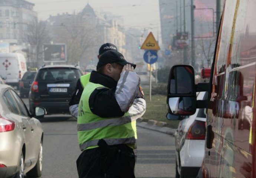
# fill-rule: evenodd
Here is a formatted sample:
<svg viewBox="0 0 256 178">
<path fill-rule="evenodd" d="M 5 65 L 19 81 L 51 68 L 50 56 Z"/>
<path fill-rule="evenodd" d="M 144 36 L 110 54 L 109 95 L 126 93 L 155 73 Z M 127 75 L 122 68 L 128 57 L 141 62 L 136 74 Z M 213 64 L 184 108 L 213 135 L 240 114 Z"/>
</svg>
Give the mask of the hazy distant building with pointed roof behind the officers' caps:
<svg viewBox="0 0 256 178">
<path fill-rule="evenodd" d="M 106 14 L 94 11 L 89 3 L 78 14 L 58 14 L 57 16 L 50 16 L 47 21 L 50 24 L 50 33 L 54 43 L 65 42 L 66 39 L 56 38 L 62 30 L 68 30 L 70 34 L 76 33 L 77 30 L 81 35 L 79 46 L 82 46 L 85 53 L 79 59 L 74 59 L 70 54 L 72 51 L 69 52 L 69 49 L 73 46 L 67 45 L 69 62 L 73 60 L 73 62 L 79 63 L 85 68 L 88 65 L 96 66 L 98 50 L 103 43 L 115 44 L 118 51 L 125 56 L 124 28 L 118 23 L 118 20 L 107 19 Z"/>
</svg>

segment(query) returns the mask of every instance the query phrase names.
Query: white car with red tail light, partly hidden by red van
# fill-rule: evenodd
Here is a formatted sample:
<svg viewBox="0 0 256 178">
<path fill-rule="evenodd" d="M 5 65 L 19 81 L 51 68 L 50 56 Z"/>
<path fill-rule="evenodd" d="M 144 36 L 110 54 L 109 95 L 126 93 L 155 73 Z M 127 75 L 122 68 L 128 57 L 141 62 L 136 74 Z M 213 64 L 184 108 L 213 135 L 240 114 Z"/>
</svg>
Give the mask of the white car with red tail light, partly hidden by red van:
<svg viewBox="0 0 256 178">
<path fill-rule="evenodd" d="M 197 100 L 207 99 L 207 92 L 198 92 Z M 180 121 L 175 138 L 176 178 L 195 178 L 204 157 L 206 109 Z"/>
</svg>

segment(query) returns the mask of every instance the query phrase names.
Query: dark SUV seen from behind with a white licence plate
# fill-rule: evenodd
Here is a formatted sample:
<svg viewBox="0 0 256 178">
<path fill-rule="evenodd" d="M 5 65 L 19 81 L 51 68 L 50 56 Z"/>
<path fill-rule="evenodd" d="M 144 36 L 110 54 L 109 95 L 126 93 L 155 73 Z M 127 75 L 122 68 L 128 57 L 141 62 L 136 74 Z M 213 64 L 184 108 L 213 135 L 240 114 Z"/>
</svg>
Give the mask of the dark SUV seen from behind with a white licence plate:
<svg viewBox="0 0 256 178">
<path fill-rule="evenodd" d="M 46 108 L 47 114 L 69 114 L 69 100 L 76 82 L 83 74 L 78 66 L 46 65 L 41 67 L 29 93 L 30 112 L 35 106 Z"/>
</svg>

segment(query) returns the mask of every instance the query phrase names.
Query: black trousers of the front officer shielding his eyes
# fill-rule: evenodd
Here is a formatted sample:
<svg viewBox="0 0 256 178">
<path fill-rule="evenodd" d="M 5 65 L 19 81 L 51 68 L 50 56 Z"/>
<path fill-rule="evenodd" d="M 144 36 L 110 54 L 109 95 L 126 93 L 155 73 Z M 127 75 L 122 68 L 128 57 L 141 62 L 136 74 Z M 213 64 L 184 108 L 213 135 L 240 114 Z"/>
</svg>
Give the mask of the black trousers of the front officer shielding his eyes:
<svg viewBox="0 0 256 178">
<path fill-rule="evenodd" d="M 83 151 L 76 160 L 79 178 L 135 178 L 133 149 L 125 144 L 110 147 L 116 149 L 115 154 L 106 155 L 100 148 Z M 105 164 L 107 156 L 112 159 Z"/>
</svg>

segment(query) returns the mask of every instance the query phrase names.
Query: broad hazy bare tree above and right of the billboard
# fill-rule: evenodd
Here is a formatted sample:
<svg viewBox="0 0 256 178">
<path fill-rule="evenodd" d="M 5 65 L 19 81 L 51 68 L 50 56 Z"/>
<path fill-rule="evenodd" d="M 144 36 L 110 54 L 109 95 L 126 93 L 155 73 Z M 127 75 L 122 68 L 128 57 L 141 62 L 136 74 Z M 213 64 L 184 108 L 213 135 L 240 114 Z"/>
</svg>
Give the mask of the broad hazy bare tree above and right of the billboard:
<svg viewBox="0 0 256 178">
<path fill-rule="evenodd" d="M 63 23 L 52 26 L 55 43 L 65 43 L 69 64 L 82 62 L 88 64 L 96 55 L 98 47 L 98 32 L 95 25 L 87 23 L 86 19 L 70 17 Z"/>
</svg>

